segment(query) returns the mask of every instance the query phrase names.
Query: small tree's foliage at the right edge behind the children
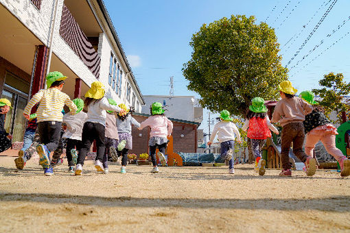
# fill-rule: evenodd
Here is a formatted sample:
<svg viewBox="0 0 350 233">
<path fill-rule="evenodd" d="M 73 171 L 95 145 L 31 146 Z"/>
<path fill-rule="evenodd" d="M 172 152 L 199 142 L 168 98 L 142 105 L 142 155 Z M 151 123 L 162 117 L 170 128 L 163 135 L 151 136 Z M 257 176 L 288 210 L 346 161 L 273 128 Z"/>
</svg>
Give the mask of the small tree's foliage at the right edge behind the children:
<svg viewBox="0 0 350 233">
<path fill-rule="evenodd" d="M 338 115 L 338 123 L 341 121 L 341 112 L 350 112 L 350 101 L 345 99 L 345 95 L 350 93 L 350 82 L 343 81 L 344 76 L 342 73 L 329 73 L 320 79 L 318 84 L 323 86 L 320 89 L 313 89 L 312 92 L 315 95 L 319 95 L 322 99 L 320 101 L 320 106 L 325 109 L 325 114 L 329 116 L 332 111 L 336 111 Z"/>
</svg>

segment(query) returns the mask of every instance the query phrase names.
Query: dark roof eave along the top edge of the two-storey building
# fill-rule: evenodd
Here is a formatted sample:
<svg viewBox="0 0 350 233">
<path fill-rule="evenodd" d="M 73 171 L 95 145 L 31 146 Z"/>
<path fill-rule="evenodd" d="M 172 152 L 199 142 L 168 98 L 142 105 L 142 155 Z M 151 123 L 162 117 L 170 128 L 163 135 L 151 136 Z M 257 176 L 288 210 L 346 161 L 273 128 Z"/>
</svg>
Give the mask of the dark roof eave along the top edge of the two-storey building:
<svg viewBox="0 0 350 233">
<path fill-rule="evenodd" d="M 118 49 L 121 51 L 121 55 L 122 55 L 122 57 L 123 57 L 123 60 L 124 60 L 124 62 L 125 62 L 125 64 L 126 64 L 126 66 L 128 66 L 128 69 L 129 69 L 129 71 L 130 71 L 130 75 L 131 75 L 131 77 L 132 77 L 132 80 L 134 81 L 135 86 L 136 86 L 137 90 L 138 90 L 139 93 L 140 93 L 141 100 L 143 101 L 142 105 L 145 105 L 145 99 L 143 99 L 143 96 L 142 96 L 142 94 L 141 94 L 141 90 L 140 90 L 140 88 L 139 88 L 139 85 L 137 84 L 136 79 L 135 79 L 135 76 L 134 76 L 134 74 L 132 73 L 131 66 L 130 66 L 130 64 L 129 64 L 129 62 L 128 62 L 128 59 L 126 58 L 126 54 L 125 54 L 125 52 L 124 52 L 124 49 L 123 49 L 123 47 L 121 46 L 121 42 L 120 42 L 120 40 L 119 40 L 118 34 L 117 34 L 117 32 L 115 31 L 115 28 L 114 28 L 114 25 L 113 25 L 113 23 L 112 23 L 112 20 L 110 19 L 110 16 L 109 16 L 109 14 L 108 14 L 108 12 L 107 12 L 106 6 L 104 5 L 104 1 L 103 1 L 103 0 L 97 0 L 97 3 L 98 3 L 98 5 L 100 6 L 100 9 L 102 10 L 102 13 L 104 14 L 104 19 L 106 19 L 106 21 L 108 22 L 108 26 L 110 27 L 110 31 L 112 32 L 113 37 L 114 37 L 115 41 L 117 42 Z"/>
</svg>

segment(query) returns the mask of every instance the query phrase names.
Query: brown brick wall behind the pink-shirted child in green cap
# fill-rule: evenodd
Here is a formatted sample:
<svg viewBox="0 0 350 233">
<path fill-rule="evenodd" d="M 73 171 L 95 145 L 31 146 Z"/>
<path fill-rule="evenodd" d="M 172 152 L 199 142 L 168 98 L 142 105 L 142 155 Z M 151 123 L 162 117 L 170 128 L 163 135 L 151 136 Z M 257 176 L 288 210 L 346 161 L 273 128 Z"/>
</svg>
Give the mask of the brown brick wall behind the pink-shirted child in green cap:
<svg viewBox="0 0 350 233">
<path fill-rule="evenodd" d="M 147 119 L 146 116 L 133 116 L 139 123 Z M 172 136 L 174 138 L 174 152 L 196 152 L 196 125 L 179 123 L 172 121 L 174 129 Z M 140 137 L 139 134 L 142 134 Z M 148 153 L 148 140 L 150 138 L 150 127 L 145 127 L 143 130 L 137 130 L 132 127 L 132 150 L 130 154 Z M 181 134 L 184 136 L 181 137 Z"/>
</svg>

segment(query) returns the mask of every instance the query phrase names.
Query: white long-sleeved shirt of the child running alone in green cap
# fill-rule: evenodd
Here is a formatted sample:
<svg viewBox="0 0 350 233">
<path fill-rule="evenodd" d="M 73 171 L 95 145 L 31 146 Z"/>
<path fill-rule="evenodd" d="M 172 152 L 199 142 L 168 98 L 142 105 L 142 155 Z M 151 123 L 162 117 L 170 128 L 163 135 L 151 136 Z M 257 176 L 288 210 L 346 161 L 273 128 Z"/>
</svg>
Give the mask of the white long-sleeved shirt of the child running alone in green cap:
<svg viewBox="0 0 350 233">
<path fill-rule="evenodd" d="M 213 143 L 216 133 L 218 133 L 220 143 L 226 142 L 227 140 L 235 140 L 235 136 L 237 136 L 238 140 L 241 140 L 240 132 L 232 121 L 220 121 L 216 123 L 211 133 L 209 143 Z"/>
</svg>

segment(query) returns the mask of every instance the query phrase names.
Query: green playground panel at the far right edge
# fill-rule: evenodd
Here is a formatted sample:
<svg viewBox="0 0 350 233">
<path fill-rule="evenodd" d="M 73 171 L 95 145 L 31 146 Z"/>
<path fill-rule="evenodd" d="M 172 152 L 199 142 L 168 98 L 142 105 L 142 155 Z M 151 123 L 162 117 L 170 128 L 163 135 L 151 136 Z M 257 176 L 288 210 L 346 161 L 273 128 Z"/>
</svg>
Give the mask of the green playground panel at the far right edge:
<svg viewBox="0 0 350 233">
<path fill-rule="evenodd" d="M 336 147 L 342 151 L 342 154 L 350 158 L 350 121 L 347 121 L 338 127 L 338 134 L 336 135 Z M 338 171 L 340 171 L 340 164 L 337 162 Z"/>
</svg>

